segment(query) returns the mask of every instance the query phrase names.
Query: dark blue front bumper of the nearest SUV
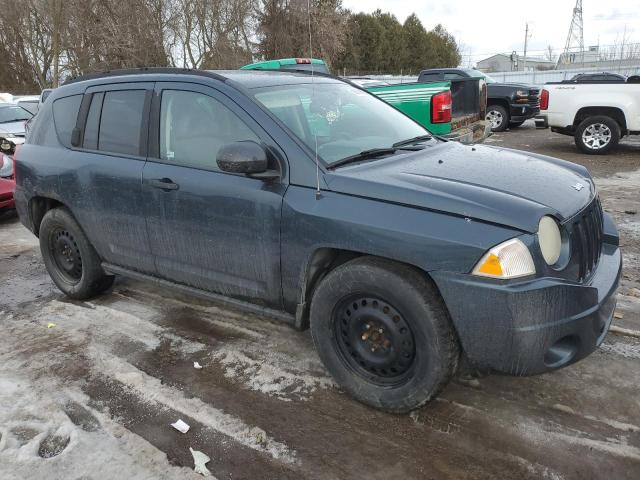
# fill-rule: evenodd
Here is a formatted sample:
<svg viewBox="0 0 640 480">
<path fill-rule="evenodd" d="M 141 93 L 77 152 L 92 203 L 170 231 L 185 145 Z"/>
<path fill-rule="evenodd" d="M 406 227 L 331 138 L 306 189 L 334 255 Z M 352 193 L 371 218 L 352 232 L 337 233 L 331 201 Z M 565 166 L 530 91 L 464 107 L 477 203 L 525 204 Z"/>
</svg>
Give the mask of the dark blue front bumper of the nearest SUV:
<svg viewBox="0 0 640 480">
<path fill-rule="evenodd" d="M 433 272 L 472 364 L 511 375 L 570 365 L 603 341 L 622 271 L 617 245 L 605 243 L 585 284 L 556 278 L 507 283 Z"/>
</svg>

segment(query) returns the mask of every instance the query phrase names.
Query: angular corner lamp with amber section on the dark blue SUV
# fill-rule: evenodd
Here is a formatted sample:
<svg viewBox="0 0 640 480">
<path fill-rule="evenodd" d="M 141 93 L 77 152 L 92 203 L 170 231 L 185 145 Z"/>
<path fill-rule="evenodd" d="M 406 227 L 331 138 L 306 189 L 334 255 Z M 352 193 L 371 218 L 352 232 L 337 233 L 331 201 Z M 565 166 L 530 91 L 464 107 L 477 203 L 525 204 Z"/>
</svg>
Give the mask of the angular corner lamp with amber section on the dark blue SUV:
<svg viewBox="0 0 640 480">
<path fill-rule="evenodd" d="M 473 269 L 473 274 L 491 278 L 518 278 L 535 275 L 536 267 L 527 246 L 517 238 L 489 250 Z"/>
</svg>

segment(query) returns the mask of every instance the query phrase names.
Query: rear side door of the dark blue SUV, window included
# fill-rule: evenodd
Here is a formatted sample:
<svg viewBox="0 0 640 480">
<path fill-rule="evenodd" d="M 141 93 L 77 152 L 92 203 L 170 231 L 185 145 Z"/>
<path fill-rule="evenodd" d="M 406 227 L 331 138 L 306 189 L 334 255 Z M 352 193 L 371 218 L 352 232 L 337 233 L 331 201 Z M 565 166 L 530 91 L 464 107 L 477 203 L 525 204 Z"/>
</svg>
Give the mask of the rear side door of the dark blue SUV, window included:
<svg viewBox="0 0 640 480">
<path fill-rule="evenodd" d="M 86 186 L 75 211 L 86 234 L 105 261 L 145 273 L 155 272 L 142 198 L 152 92 L 149 82 L 87 89 L 74 148 L 82 158 L 76 175 Z"/>
</svg>

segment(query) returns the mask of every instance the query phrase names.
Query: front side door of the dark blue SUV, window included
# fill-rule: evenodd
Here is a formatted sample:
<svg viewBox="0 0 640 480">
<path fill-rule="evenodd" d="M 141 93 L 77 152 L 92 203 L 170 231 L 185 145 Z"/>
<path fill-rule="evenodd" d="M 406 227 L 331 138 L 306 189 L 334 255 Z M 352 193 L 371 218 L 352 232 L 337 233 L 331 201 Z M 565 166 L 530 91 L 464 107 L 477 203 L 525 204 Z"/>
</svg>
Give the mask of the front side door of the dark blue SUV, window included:
<svg viewBox="0 0 640 480">
<path fill-rule="evenodd" d="M 225 144 L 270 146 L 270 138 L 226 95 L 202 85 L 157 83 L 152 118 L 156 153 L 144 168 L 143 192 L 159 275 L 280 306 L 286 183 L 224 173 L 216 163 Z M 282 161 L 272 161 L 284 171 Z"/>
</svg>

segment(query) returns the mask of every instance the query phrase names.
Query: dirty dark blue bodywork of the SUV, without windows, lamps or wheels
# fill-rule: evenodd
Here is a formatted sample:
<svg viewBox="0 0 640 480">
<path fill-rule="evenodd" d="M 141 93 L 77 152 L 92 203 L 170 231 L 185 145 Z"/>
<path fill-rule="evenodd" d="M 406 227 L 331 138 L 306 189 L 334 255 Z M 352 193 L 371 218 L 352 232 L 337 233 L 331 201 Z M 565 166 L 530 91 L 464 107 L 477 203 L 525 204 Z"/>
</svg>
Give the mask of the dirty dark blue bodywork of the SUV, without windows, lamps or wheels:
<svg viewBox="0 0 640 480">
<path fill-rule="evenodd" d="M 469 359 L 509 374 L 568 365 L 602 342 L 621 257 L 615 225 L 586 169 L 436 139 L 332 168 L 277 111 L 289 104 L 272 111 L 256 97 L 265 87 L 293 89 L 310 81 L 286 72 L 158 70 L 56 89 L 17 162 L 21 221 L 37 234 L 41 205 L 65 205 L 118 273 L 262 305 L 299 327 L 307 325 L 317 277 L 339 255 L 401 262 L 435 282 Z M 134 87 L 145 91 L 141 121 L 149 133 L 138 154 L 88 155 L 52 133 L 48 122 L 57 101 L 82 95 L 76 125 L 83 127 L 94 93 L 118 82 L 125 89 L 139 83 Z M 329 77 L 314 82 L 319 91 L 346 85 Z M 176 167 L 173 157 L 163 159 L 162 98 L 176 89 L 226 105 L 272 153 L 279 178 Z M 537 230 L 545 215 L 567 232 L 563 268 L 542 259 Z M 535 275 L 499 280 L 472 273 L 490 249 L 510 239 L 530 251 Z"/>
</svg>

